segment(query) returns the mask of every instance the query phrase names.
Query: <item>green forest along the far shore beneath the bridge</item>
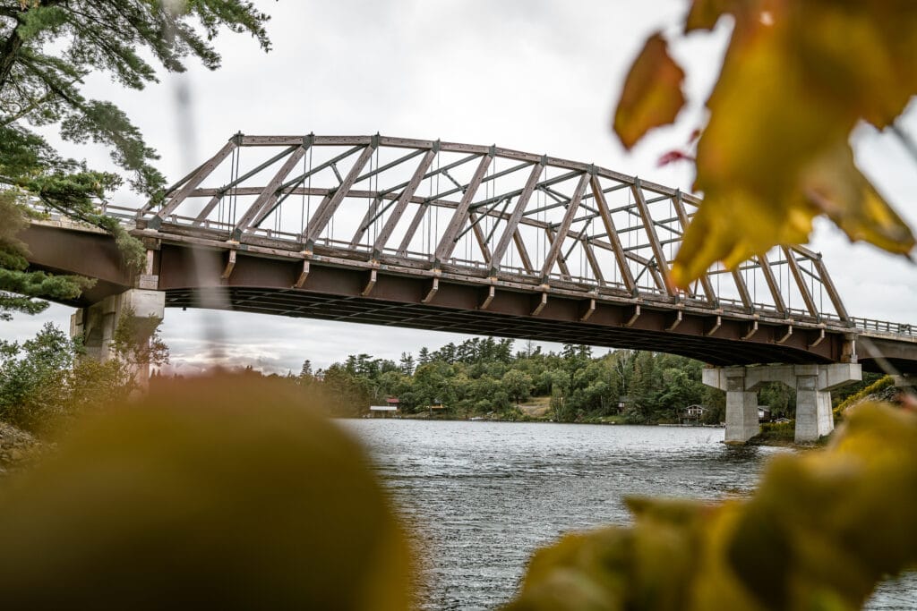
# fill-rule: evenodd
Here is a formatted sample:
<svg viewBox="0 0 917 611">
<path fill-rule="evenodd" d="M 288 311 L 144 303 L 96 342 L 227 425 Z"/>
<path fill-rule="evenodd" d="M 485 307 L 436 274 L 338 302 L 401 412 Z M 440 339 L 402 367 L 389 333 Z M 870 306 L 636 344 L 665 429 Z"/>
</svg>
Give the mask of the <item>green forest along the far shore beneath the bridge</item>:
<svg viewBox="0 0 917 611">
<path fill-rule="evenodd" d="M 306 360 L 298 376 L 288 377 L 321 396 L 330 413 L 352 417 L 370 405 L 397 398 L 404 415 L 434 413 L 436 417 L 491 417 L 524 420 L 518 406 L 549 406 L 546 420 L 676 423 L 691 405 L 702 405 L 701 423 L 724 421 L 724 393 L 702 384 L 704 364 L 684 356 L 635 350 L 593 355 L 586 345 L 564 344 L 557 353 L 525 342 L 515 349 L 511 339 L 470 338 L 416 356 L 403 353 L 398 362 L 372 355 L 349 355 L 326 369 L 313 369 Z M 834 393 L 843 400 L 874 381 Z M 770 384 L 758 393 L 758 403 L 772 418 L 795 415 L 795 393 Z"/>
</svg>

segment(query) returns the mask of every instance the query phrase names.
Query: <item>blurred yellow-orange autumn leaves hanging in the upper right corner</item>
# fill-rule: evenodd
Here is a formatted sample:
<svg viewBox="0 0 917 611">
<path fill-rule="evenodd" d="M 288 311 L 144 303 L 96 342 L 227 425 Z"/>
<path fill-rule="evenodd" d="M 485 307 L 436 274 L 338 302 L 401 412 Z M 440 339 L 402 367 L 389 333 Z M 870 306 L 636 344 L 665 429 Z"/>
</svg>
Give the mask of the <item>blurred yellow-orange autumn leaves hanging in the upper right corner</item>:
<svg viewBox="0 0 917 611">
<path fill-rule="evenodd" d="M 878 129 L 917 93 L 911 0 L 693 0 L 685 35 L 733 24 L 697 142 L 700 210 L 672 267 L 685 287 L 716 261 L 735 267 L 773 245 L 801 244 L 826 215 L 851 240 L 907 254 L 911 230 L 854 164 L 848 138 Z M 614 130 L 625 147 L 671 123 L 682 72 L 657 33 L 624 84 Z"/>
</svg>

